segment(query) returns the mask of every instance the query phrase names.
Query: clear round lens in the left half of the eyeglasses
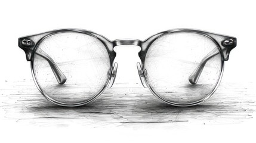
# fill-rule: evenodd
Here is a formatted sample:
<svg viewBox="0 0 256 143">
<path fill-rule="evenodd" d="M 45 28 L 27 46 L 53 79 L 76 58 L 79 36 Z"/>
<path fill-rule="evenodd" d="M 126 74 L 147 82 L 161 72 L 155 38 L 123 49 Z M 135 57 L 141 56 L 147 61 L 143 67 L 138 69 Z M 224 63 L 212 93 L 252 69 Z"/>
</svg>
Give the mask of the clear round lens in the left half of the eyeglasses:
<svg viewBox="0 0 256 143">
<path fill-rule="evenodd" d="M 57 82 L 51 64 L 40 55 L 42 51 L 66 76 L 64 84 Z M 79 104 L 91 100 L 106 86 L 110 58 L 106 46 L 97 38 L 62 32 L 39 43 L 32 65 L 36 82 L 47 98 L 61 104 Z"/>
</svg>

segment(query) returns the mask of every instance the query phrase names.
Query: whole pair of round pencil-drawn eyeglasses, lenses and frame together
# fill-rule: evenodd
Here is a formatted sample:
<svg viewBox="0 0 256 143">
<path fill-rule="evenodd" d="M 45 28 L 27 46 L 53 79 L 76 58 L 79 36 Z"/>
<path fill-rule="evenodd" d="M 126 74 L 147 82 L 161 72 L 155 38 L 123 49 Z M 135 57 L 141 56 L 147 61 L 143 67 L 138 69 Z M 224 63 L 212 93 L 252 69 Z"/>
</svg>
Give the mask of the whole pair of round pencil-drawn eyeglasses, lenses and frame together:
<svg viewBox="0 0 256 143">
<path fill-rule="evenodd" d="M 87 30 L 60 29 L 18 39 L 39 91 L 69 107 L 87 104 L 111 88 L 118 70 L 113 48 L 119 45 L 141 47 L 137 69 L 144 88 L 167 104 L 190 106 L 214 94 L 236 38 L 173 29 L 145 41 L 110 41 Z"/>
</svg>

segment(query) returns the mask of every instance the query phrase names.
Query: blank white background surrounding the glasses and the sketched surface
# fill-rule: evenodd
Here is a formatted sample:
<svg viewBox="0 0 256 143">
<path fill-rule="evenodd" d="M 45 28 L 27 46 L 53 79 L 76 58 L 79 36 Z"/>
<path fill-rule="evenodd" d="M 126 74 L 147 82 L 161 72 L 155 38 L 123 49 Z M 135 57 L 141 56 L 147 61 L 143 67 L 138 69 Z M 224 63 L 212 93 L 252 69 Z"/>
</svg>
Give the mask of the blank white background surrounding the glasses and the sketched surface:
<svg viewBox="0 0 256 143">
<path fill-rule="evenodd" d="M 18 48 L 18 37 L 61 28 L 92 30 L 110 40 L 149 36 L 174 28 L 193 28 L 238 38 L 225 62 L 223 81 L 255 83 L 256 4 L 254 1 L 2 1 L 0 4 L 1 83 L 32 79 L 30 63 Z M 138 47 L 115 49 L 118 81 L 138 79 Z M 127 69 L 125 69 L 127 66 Z M 136 76 L 134 76 L 136 73 Z M 1 86 L 1 85 L 0 85 Z M 115 86 L 115 85 L 114 85 Z M 0 124 L 0 142 L 111 141 L 252 141 L 255 119 L 243 125 L 183 129 L 38 128 Z M 252 129 L 252 130 L 251 130 Z"/>
</svg>

